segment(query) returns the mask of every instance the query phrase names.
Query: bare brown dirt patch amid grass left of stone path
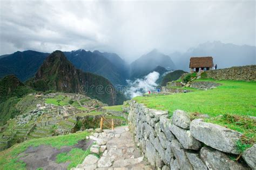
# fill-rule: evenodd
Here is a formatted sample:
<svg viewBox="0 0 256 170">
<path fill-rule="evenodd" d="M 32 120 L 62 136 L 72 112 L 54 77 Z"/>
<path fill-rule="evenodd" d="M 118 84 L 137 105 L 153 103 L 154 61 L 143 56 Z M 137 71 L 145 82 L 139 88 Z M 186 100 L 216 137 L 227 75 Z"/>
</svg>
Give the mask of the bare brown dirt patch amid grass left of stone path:
<svg viewBox="0 0 256 170">
<path fill-rule="evenodd" d="M 56 163 L 56 156 L 59 153 L 69 152 L 72 148 L 82 148 L 84 151 L 89 147 L 90 141 L 81 140 L 73 146 L 63 146 L 60 149 L 49 145 L 41 145 L 38 147 L 29 147 L 23 153 L 19 154 L 22 160 L 26 163 L 26 169 L 66 169 L 70 162 Z"/>
</svg>

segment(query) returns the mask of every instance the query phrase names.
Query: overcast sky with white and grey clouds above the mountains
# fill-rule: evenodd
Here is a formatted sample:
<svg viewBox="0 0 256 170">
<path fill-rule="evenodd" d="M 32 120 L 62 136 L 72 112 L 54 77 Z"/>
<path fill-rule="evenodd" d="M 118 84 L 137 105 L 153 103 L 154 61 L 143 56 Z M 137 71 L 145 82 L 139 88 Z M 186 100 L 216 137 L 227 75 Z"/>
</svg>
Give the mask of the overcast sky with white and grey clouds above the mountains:
<svg viewBox="0 0 256 170">
<path fill-rule="evenodd" d="M 100 50 L 131 61 L 207 41 L 255 45 L 255 1 L 0 0 L 0 55 Z"/>
</svg>

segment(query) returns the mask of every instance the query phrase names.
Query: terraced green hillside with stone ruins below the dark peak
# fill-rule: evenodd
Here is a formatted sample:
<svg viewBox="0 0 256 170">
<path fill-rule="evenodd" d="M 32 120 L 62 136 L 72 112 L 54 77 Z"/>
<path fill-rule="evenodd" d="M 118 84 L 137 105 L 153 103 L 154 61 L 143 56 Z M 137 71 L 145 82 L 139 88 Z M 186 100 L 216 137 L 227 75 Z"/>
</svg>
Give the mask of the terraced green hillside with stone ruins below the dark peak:
<svg viewBox="0 0 256 170">
<path fill-rule="evenodd" d="M 15 106 L 21 114 L 0 128 L 0 148 L 5 149 L 28 139 L 73 133 L 83 126 L 94 127 L 96 125 L 87 126 L 83 120 L 90 116 L 93 120 L 96 112 L 99 117 L 103 115 L 100 112 L 103 106 L 106 105 L 80 94 L 29 94 Z"/>
</svg>

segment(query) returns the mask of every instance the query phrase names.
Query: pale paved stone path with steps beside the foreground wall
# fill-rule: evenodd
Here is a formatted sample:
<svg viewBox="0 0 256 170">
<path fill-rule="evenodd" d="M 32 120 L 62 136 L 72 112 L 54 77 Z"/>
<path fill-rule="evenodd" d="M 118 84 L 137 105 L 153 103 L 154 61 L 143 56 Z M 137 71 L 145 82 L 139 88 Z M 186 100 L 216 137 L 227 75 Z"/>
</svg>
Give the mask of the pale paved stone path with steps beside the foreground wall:
<svg viewBox="0 0 256 170">
<path fill-rule="evenodd" d="M 120 126 L 89 137 L 96 142 L 89 154 L 76 168 L 71 170 L 126 170 L 152 169 L 133 142 L 127 126 Z M 103 153 L 97 158 L 93 153 Z"/>
</svg>

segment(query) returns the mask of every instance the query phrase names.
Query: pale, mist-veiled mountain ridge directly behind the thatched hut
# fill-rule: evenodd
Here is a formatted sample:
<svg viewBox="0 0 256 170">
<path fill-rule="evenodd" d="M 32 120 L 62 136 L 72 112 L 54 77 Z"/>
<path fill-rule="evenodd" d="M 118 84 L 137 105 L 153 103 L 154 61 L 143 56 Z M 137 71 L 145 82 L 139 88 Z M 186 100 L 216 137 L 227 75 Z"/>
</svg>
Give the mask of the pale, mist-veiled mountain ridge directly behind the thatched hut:
<svg viewBox="0 0 256 170">
<path fill-rule="evenodd" d="M 184 53 L 170 54 L 178 69 L 188 71 L 190 57 L 212 56 L 219 69 L 256 64 L 256 47 L 249 45 L 225 44 L 220 41 L 199 44 Z"/>
</svg>

